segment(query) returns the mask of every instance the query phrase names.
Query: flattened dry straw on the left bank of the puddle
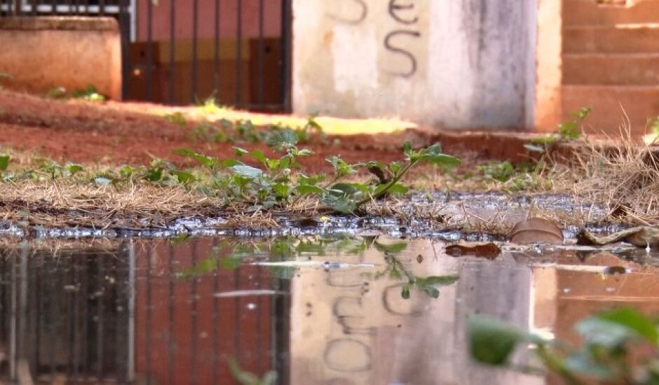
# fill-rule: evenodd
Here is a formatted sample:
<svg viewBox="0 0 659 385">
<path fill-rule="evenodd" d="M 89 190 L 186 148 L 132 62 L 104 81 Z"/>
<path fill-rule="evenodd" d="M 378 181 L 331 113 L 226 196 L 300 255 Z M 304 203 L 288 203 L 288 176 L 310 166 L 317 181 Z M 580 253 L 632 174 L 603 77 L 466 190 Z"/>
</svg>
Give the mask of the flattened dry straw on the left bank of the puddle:
<svg viewBox="0 0 659 385">
<path fill-rule="evenodd" d="M 0 220 L 48 227 L 165 227 L 175 218 L 208 216 L 218 202 L 182 187 L 111 186 L 70 181 L 0 183 Z"/>
</svg>

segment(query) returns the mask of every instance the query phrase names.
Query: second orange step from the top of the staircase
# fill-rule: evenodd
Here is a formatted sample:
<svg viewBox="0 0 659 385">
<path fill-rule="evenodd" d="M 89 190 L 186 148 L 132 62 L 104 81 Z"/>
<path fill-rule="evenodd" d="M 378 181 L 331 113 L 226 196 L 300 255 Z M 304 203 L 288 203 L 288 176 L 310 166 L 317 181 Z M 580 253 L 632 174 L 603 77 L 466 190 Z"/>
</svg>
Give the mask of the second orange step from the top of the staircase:
<svg viewBox="0 0 659 385">
<path fill-rule="evenodd" d="M 659 52 L 659 23 L 565 27 L 563 52 Z"/>
</svg>

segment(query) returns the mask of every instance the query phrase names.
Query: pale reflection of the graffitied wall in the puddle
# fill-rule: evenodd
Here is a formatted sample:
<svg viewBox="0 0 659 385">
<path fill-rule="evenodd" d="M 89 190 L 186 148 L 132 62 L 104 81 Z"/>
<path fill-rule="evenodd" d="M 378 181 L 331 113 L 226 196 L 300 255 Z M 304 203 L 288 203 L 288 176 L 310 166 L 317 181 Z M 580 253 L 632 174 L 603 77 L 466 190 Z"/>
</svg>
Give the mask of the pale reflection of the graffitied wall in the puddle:
<svg viewBox="0 0 659 385">
<path fill-rule="evenodd" d="M 423 256 L 421 263 L 417 255 Z M 369 250 L 339 260 L 377 267 L 305 270 L 294 277 L 292 384 L 542 382 L 474 364 L 467 356 L 469 314 L 529 324 L 528 268 L 487 260 L 463 266 L 463 258 L 435 255 L 431 241 L 416 240 L 399 257 L 407 269 L 417 276 L 459 274 L 460 279 L 440 288 L 437 299 L 413 290 L 410 300 L 404 300 L 402 281 L 365 276 L 384 269 L 382 253 Z"/>
</svg>

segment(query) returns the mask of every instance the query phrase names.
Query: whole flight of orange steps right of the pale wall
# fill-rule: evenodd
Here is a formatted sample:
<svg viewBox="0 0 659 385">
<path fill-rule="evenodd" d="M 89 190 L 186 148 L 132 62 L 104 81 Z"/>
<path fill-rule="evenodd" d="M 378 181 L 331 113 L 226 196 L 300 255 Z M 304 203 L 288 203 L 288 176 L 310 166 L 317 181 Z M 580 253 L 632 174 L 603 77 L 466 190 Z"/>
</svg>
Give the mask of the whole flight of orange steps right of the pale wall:
<svg viewBox="0 0 659 385">
<path fill-rule="evenodd" d="M 611 134 L 625 120 L 620 105 L 634 134 L 659 115 L 659 0 L 563 0 L 562 116 L 588 105 L 587 126 Z"/>
</svg>

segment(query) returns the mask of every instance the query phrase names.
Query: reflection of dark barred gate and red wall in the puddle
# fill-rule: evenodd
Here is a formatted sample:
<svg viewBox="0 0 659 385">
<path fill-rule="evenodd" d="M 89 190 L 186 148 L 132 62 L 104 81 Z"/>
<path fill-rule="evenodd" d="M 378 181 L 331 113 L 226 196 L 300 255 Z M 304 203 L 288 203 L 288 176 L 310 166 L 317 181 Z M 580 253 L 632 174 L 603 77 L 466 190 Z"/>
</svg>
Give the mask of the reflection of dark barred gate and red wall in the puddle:
<svg viewBox="0 0 659 385">
<path fill-rule="evenodd" d="M 0 248 L 0 383 L 224 384 L 236 360 L 287 384 L 290 281 L 209 264 L 211 246 Z M 254 288 L 278 294 L 216 295 Z"/>
</svg>

